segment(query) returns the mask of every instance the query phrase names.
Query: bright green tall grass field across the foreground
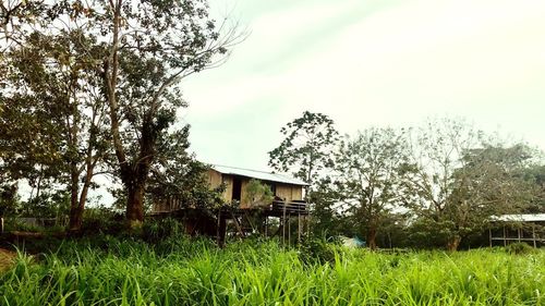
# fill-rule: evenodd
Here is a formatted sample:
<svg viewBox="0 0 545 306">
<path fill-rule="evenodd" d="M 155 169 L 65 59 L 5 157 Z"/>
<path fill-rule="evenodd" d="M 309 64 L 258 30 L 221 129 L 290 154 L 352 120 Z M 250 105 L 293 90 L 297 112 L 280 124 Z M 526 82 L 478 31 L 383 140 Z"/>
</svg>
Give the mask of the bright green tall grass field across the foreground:
<svg viewBox="0 0 545 306">
<path fill-rule="evenodd" d="M 319 259 L 318 259 L 319 258 Z M 0 305 L 545 305 L 545 252 L 377 254 L 101 237 L 19 255 Z"/>
</svg>

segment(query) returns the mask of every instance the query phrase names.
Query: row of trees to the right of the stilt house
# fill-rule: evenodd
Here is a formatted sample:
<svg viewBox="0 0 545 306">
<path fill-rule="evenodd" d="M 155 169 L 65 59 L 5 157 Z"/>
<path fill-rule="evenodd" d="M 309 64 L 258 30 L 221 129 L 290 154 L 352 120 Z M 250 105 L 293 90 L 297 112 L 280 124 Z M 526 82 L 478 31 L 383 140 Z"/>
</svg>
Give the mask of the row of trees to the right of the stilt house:
<svg viewBox="0 0 545 306">
<path fill-rule="evenodd" d="M 542 152 L 463 119 L 340 135 L 327 115 L 306 111 L 280 132 L 269 166 L 308 182 L 318 234 L 363 235 L 375 248 L 378 234 L 404 227 L 409 238 L 457 249 L 493 216 L 545 212 Z"/>
</svg>

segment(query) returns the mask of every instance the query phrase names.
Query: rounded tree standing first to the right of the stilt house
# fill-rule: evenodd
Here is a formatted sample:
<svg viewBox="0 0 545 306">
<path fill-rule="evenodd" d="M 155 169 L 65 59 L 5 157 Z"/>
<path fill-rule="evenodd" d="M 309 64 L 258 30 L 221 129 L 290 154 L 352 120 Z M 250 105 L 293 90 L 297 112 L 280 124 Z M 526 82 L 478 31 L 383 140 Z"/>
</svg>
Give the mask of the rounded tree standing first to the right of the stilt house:
<svg viewBox="0 0 545 306">
<path fill-rule="evenodd" d="M 399 207 L 409 178 L 409 151 L 404 132 L 367 128 L 341 142 L 336 159 L 340 200 L 355 228 L 363 228 L 371 248 L 385 215 Z"/>
</svg>

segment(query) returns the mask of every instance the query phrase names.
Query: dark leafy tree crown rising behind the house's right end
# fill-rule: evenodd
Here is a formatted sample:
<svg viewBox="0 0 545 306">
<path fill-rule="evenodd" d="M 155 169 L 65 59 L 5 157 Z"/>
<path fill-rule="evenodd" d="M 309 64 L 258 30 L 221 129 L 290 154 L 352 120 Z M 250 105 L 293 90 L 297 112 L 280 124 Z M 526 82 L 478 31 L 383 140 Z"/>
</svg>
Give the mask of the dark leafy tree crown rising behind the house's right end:
<svg viewBox="0 0 545 306">
<path fill-rule="evenodd" d="M 331 154 L 339 135 L 334 121 L 323 113 L 305 111 L 280 133 L 286 138 L 269 151 L 269 166 L 277 171 L 293 173 L 308 183 L 312 191 L 319 172 L 331 169 L 334 163 Z"/>
</svg>

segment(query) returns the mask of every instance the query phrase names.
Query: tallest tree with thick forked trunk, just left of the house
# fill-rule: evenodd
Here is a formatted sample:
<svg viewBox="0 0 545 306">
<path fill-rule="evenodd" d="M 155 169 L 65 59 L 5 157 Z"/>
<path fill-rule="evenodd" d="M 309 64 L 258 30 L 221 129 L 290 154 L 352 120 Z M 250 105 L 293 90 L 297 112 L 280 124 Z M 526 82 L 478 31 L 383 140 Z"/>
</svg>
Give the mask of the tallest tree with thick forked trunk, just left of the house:
<svg viewBox="0 0 545 306">
<path fill-rule="evenodd" d="M 183 107 L 178 87 L 187 75 L 217 65 L 240 38 L 208 17 L 203 0 L 98 1 L 93 8 L 106 38 L 101 61 L 104 93 L 117 168 L 128 195 L 130 225 L 143 221 L 143 200 L 157 143 Z M 223 59 L 223 58 L 222 58 Z M 220 60 L 221 61 L 221 60 Z"/>
</svg>

